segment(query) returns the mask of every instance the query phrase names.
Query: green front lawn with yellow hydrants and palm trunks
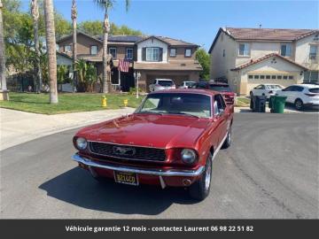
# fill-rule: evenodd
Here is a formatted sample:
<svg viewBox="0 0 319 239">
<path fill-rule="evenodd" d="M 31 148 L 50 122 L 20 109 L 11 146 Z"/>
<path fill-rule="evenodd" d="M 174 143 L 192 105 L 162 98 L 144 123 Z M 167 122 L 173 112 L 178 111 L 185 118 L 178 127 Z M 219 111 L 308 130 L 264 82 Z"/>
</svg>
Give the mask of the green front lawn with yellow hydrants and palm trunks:
<svg viewBox="0 0 319 239">
<path fill-rule="evenodd" d="M 120 109 L 124 107 L 124 99 L 128 99 L 128 107 L 136 108 L 143 99 L 126 94 L 59 93 L 58 104 L 50 104 L 49 94 L 11 92 L 9 96 L 10 101 L 0 101 L 1 108 L 43 114 Z M 101 106 L 102 96 L 106 96 L 106 108 Z"/>
</svg>

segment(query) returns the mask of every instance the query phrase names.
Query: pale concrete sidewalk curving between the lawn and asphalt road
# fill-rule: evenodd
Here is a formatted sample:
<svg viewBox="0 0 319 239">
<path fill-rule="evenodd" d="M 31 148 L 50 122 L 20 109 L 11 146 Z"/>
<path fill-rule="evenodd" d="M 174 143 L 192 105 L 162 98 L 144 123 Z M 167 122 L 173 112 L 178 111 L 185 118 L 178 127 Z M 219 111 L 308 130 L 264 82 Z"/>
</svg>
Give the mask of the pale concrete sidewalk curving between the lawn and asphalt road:
<svg viewBox="0 0 319 239">
<path fill-rule="evenodd" d="M 0 108 L 0 150 L 5 150 L 19 143 L 25 143 L 45 135 L 52 135 L 76 127 L 84 127 L 131 112 L 134 112 L 134 109 L 125 108 L 121 110 L 45 115 Z"/>
</svg>

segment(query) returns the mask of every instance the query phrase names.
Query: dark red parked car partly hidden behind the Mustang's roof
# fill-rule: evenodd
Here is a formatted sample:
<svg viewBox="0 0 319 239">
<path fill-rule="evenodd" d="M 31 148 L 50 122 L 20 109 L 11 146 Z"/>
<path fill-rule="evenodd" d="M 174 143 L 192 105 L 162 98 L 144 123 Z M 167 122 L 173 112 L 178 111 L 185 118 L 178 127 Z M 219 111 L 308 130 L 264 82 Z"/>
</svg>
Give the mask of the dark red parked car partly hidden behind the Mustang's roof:
<svg viewBox="0 0 319 239">
<path fill-rule="evenodd" d="M 223 82 L 216 81 L 198 81 L 192 88 L 196 89 L 211 89 L 222 93 L 226 104 L 234 104 L 236 100 L 236 93 L 230 89 L 230 85 Z"/>
</svg>

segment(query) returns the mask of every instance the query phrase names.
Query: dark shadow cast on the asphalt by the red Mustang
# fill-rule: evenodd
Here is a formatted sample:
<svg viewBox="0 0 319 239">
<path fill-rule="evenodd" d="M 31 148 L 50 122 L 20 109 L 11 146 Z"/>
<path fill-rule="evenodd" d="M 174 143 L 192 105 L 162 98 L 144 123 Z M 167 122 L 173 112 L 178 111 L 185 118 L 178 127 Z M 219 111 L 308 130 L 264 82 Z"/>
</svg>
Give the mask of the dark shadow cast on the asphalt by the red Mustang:
<svg viewBox="0 0 319 239">
<path fill-rule="evenodd" d="M 195 204 L 187 190 L 140 185 L 118 184 L 111 180 L 102 183 L 94 180 L 89 172 L 75 167 L 50 181 L 39 189 L 49 197 L 83 208 L 121 214 L 157 215 L 171 204 Z"/>
</svg>

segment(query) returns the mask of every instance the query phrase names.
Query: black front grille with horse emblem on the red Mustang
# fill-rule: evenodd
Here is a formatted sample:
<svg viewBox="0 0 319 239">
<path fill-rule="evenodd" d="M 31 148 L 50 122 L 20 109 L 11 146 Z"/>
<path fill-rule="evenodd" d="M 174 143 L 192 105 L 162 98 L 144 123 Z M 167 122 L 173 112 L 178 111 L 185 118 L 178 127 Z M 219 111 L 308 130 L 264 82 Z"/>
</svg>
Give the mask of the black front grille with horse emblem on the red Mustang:
<svg viewBox="0 0 319 239">
<path fill-rule="evenodd" d="M 116 153 L 117 150 L 120 151 L 121 149 L 124 149 L 124 151 L 127 150 L 127 152 Z M 164 161 L 166 158 L 165 150 L 162 149 L 144 148 L 130 145 L 119 145 L 113 143 L 89 142 L 89 150 L 94 154 L 111 158 L 150 161 Z"/>
</svg>

